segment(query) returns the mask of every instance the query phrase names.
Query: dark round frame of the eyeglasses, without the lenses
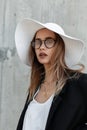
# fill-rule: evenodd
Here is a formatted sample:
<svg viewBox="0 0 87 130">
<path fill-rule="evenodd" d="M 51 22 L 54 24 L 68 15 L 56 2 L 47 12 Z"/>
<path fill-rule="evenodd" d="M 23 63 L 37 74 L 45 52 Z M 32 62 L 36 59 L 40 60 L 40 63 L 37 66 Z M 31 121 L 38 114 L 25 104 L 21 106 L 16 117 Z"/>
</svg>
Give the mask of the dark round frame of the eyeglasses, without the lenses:
<svg viewBox="0 0 87 130">
<path fill-rule="evenodd" d="M 48 47 L 48 46 L 46 45 L 46 40 L 48 40 L 48 39 L 52 39 L 52 40 L 54 41 L 54 45 L 53 45 L 52 47 Z M 39 41 L 40 41 L 40 46 L 39 46 L 38 48 L 35 48 L 35 40 L 39 40 Z M 35 48 L 35 49 L 39 49 L 39 48 L 42 46 L 43 43 L 44 43 L 44 45 L 45 45 L 46 48 L 50 49 L 50 48 L 53 48 L 53 47 L 55 46 L 56 42 L 57 42 L 57 39 L 54 39 L 54 38 L 52 38 L 52 37 L 46 37 L 45 40 L 41 40 L 40 38 L 37 38 L 37 39 L 35 39 L 35 40 L 34 40 L 34 41 L 31 41 L 31 45 L 32 45 L 32 47 Z"/>
</svg>

